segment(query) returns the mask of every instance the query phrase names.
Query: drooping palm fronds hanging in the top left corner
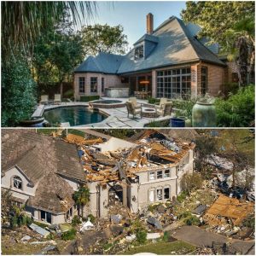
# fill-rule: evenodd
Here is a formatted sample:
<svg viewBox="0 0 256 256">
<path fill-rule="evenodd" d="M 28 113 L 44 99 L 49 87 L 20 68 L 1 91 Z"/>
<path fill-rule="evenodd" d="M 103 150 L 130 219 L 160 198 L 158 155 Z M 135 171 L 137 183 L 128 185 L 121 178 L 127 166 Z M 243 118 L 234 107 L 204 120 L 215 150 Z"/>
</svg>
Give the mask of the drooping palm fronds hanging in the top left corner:
<svg viewBox="0 0 256 256">
<path fill-rule="evenodd" d="M 1 3 L 2 7 L 2 58 L 9 60 L 15 50 L 27 52 L 49 22 L 58 22 L 68 12 L 73 23 L 89 20 L 96 13 L 96 3 L 89 1 L 32 2 L 20 1 Z"/>
</svg>

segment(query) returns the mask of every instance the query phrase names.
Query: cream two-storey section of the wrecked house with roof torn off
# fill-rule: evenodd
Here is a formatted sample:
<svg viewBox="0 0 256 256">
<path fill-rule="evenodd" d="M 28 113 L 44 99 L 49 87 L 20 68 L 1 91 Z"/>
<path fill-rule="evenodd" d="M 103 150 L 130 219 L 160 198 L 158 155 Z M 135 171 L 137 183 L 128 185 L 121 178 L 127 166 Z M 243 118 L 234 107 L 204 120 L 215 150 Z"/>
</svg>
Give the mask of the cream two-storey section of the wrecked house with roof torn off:
<svg viewBox="0 0 256 256">
<path fill-rule="evenodd" d="M 194 143 L 168 139 L 158 131 L 145 131 L 133 143 L 123 140 L 110 151 L 80 144 L 90 189 L 87 211 L 104 218 L 114 205 L 138 212 L 154 202 L 172 201 L 181 192 L 183 174 L 193 172 L 194 148 Z"/>
</svg>

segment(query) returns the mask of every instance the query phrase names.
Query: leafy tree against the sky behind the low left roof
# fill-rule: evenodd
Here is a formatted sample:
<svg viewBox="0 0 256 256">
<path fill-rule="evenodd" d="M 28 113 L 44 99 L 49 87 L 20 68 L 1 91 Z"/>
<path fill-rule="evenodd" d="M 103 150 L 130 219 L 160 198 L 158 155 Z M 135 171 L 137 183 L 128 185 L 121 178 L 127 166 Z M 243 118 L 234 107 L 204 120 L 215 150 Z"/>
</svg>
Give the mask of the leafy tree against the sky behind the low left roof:
<svg viewBox="0 0 256 256">
<path fill-rule="evenodd" d="M 84 26 L 81 31 L 84 51 L 87 55 L 97 55 L 100 52 L 124 54 L 128 42 L 123 31 L 124 29 L 120 25 Z"/>
</svg>

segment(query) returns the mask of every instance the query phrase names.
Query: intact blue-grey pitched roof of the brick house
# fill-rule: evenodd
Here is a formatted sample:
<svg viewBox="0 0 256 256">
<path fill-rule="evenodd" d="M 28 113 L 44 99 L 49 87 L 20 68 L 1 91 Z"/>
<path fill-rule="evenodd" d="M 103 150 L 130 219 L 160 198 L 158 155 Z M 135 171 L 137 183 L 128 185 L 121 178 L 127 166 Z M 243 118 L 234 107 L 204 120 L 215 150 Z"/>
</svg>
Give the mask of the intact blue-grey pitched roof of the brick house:
<svg viewBox="0 0 256 256">
<path fill-rule="evenodd" d="M 96 57 L 89 56 L 75 69 L 75 73 L 125 74 L 196 61 L 225 66 L 216 55 L 218 45 L 208 46 L 206 38 L 197 38 L 200 30 L 199 26 L 191 23 L 185 25 L 183 20 L 172 16 L 152 34 L 144 34 L 126 55 L 99 53 Z M 144 45 L 145 55 L 135 60 L 134 51 L 140 44 Z"/>
</svg>

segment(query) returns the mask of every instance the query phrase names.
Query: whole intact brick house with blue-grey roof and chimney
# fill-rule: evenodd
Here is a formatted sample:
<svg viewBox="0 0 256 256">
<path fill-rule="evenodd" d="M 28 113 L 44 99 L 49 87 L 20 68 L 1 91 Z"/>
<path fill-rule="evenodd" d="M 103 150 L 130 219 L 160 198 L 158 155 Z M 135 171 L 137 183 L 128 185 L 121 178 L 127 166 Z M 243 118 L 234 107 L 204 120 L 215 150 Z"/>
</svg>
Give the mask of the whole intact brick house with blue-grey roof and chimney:
<svg viewBox="0 0 256 256">
<path fill-rule="evenodd" d="M 228 82 L 228 67 L 218 44 L 197 38 L 200 27 L 172 16 L 156 29 L 147 15 L 147 33 L 126 55 L 89 56 L 74 72 L 74 96 L 106 96 L 108 88 L 148 90 L 153 97 L 176 98 L 206 93 L 217 96 Z M 145 83 L 145 81 L 147 81 Z"/>
</svg>

